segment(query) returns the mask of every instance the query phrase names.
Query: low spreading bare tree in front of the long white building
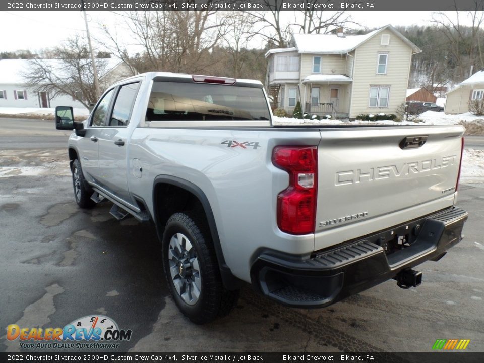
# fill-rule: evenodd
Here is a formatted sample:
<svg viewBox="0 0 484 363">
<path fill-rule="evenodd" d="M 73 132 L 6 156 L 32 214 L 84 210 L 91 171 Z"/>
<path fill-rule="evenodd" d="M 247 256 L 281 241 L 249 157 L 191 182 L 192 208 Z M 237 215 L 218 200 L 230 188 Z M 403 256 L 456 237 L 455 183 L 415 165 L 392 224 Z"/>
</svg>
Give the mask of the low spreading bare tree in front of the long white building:
<svg viewBox="0 0 484 363">
<path fill-rule="evenodd" d="M 71 96 L 84 106 L 97 102 L 94 74 L 85 39 L 75 36 L 55 48 L 56 59 L 35 58 L 24 72 L 26 86 L 36 92 L 48 92 L 50 99 L 59 94 Z M 105 59 L 96 59 L 99 78 L 108 71 Z"/>
</svg>

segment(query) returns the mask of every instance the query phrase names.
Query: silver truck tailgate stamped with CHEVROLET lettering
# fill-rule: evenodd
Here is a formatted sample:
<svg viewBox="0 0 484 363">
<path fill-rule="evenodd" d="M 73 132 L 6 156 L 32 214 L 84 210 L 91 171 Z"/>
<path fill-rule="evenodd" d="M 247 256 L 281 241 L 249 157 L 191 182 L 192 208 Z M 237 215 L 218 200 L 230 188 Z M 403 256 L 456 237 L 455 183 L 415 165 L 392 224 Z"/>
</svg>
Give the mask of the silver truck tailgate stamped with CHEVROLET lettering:
<svg viewBox="0 0 484 363">
<path fill-rule="evenodd" d="M 321 130 L 315 250 L 452 206 L 463 132 L 462 126 Z M 404 147 L 418 137 L 427 138 L 423 145 Z M 335 230 L 343 239 L 332 238 Z"/>
</svg>

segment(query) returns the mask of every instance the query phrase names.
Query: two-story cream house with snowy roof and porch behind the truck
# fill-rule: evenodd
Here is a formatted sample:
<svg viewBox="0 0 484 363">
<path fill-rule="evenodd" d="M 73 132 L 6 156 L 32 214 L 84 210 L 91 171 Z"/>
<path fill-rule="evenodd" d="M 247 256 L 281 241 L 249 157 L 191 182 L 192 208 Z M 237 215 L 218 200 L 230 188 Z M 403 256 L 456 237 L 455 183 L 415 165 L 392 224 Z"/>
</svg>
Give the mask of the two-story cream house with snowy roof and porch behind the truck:
<svg viewBox="0 0 484 363">
<path fill-rule="evenodd" d="M 391 25 L 365 35 L 294 34 L 266 53 L 273 108 L 355 118 L 395 113 L 405 102 L 412 55 L 421 50 Z"/>
</svg>

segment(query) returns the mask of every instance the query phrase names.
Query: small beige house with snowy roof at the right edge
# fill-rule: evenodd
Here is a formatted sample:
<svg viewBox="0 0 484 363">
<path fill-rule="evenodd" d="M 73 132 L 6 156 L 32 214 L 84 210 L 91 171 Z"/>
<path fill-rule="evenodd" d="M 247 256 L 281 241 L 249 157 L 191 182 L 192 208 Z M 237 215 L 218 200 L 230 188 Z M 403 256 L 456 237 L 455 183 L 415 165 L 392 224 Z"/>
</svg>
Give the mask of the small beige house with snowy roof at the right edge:
<svg viewBox="0 0 484 363">
<path fill-rule="evenodd" d="M 446 93 L 445 113 L 469 112 L 469 101 L 482 100 L 484 96 L 484 70 L 474 73 L 456 88 Z"/>
</svg>

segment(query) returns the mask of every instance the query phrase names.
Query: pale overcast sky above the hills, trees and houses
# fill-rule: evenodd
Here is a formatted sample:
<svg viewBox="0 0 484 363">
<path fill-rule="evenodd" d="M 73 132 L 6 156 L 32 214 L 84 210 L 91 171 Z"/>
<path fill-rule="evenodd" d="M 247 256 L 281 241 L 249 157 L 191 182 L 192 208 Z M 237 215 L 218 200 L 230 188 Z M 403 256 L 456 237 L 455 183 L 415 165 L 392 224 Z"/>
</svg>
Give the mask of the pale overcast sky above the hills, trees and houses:
<svg viewBox="0 0 484 363">
<path fill-rule="evenodd" d="M 283 12 L 293 18 L 293 12 Z M 392 25 L 427 25 L 432 20 L 432 12 L 347 12 L 352 19 L 367 28 L 387 24 Z M 98 24 L 112 28 L 121 23 L 122 17 L 111 12 L 88 12 L 91 36 L 100 34 Z M 452 18 L 455 13 L 448 13 Z M 462 18 L 463 19 L 463 18 Z M 461 20 L 462 20 L 461 19 Z M 84 19 L 81 12 L 0 12 L 0 30 L 2 40 L 0 51 L 26 49 L 35 52 L 42 48 L 59 45 L 70 35 L 85 33 Z M 95 44 L 93 44 L 95 46 Z M 253 44 L 260 46 L 260 44 Z"/>
</svg>

